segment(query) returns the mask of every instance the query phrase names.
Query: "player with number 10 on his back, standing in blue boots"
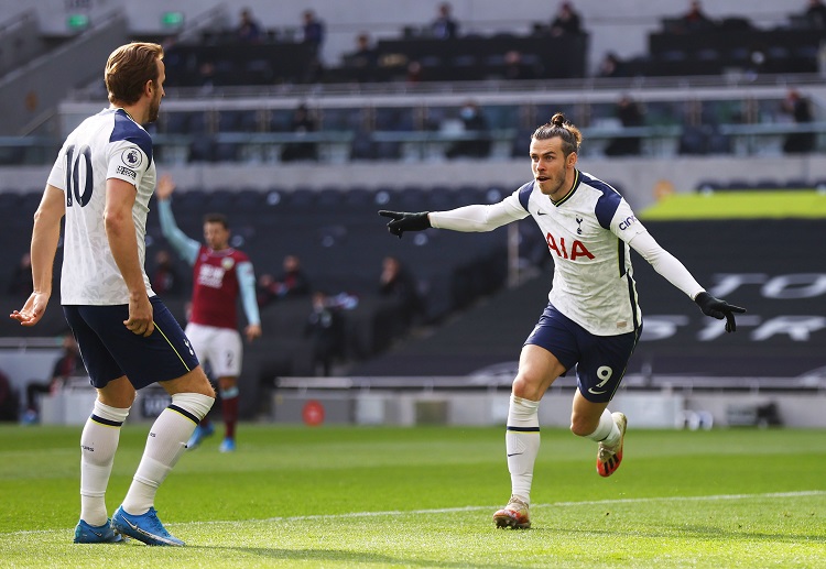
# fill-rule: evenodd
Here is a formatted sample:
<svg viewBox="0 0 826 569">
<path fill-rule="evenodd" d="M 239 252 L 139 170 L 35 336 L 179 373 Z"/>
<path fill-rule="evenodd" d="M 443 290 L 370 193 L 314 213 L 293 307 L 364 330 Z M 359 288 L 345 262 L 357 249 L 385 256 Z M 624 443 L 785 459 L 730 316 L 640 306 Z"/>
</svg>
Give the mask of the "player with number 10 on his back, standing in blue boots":
<svg viewBox="0 0 826 569">
<path fill-rule="evenodd" d="M 52 264 L 65 217 L 61 304 L 97 401 L 80 437 L 76 543 L 182 546 L 154 508 L 155 493 L 209 412 L 215 392 L 184 331 L 144 270 L 146 212 L 155 188 L 152 139 L 165 79 L 163 48 L 134 42 L 106 64 L 110 107 L 66 139 L 34 215 L 34 292 L 11 317 L 34 326 L 52 294 Z M 120 427 L 135 390 L 157 382 L 172 403 L 151 427 L 132 484 L 108 518 L 105 495 Z"/>
</svg>

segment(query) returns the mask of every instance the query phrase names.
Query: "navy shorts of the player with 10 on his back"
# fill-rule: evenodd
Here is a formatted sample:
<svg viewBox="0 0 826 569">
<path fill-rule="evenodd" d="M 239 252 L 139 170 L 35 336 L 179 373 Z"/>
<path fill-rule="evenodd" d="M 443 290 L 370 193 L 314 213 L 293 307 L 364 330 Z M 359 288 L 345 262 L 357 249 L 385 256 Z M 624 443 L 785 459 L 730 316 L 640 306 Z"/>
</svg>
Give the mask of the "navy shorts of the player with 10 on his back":
<svg viewBox="0 0 826 569">
<path fill-rule="evenodd" d="M 129 305 L 63 307 L 95 387 L 126 375 L 135 390 L 181 377 L 198 365 L 181 325 L 157 296 L 152 303 L 155 330 L 144 338 L 123 326 Z"/>
</svg>

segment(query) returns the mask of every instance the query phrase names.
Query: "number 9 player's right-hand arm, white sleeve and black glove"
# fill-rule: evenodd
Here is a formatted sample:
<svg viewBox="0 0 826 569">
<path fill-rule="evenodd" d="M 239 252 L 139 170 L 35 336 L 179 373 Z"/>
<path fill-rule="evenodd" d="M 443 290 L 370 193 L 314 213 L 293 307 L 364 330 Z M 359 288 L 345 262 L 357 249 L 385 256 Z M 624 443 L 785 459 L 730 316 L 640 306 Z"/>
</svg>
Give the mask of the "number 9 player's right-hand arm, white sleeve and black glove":
<svg viewBox="0 0 826 569">
<path fill-rule="evenodd" d="M 733 306 L 725 300 L 715 298 L 694 280 L 688 270 L 674 255 L 660 247 L 651 233 L 648 231 L 638 233 L 628 243 L 631 248 L 640 253 L 645 261 L 651 263 L 654 270 L 663 275 L 671 284 L 687 294 L 703 314 L 717 318 L 726 319 L 726 331 L 733 332 L 737 330 L 735 314 L 742 314 L 746 308 Z"/>
</svg>

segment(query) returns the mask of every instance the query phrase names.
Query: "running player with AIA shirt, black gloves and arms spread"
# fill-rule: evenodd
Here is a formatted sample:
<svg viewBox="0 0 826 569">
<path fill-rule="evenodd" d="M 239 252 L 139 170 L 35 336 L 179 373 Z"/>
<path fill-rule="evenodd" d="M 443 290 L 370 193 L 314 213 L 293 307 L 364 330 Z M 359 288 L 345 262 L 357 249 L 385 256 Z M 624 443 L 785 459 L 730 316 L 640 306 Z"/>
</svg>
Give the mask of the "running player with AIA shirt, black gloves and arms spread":
<svg viewBox="0 0 826 569">
<path fill-rule="evenodd" d="M 389 231 L 430 227 L 491 231 L 533 217 L 554 259 L 548 305 L 522 347 L 513 380 L 506 450 L 511 499 L 493 514 L 498 527 L 531 526 L 529 504 L 540 448 L 539 404 L 559 375 L 576 365 L 570 430 L 598 444 L 597 471 L 609 477 L 622 461 L 627 418 L 608 411 L 642 331 L 629 247 L 683 291 L 704 314 L 726 318 L 743 308 L 710 296 L 657 244 L 626 200 L 608 184 L 576 168 L 582 133 L 562 113 L 531 136 L 533 180 L 502 201 L 449 211 L 379 211 Z"/>
</svg>

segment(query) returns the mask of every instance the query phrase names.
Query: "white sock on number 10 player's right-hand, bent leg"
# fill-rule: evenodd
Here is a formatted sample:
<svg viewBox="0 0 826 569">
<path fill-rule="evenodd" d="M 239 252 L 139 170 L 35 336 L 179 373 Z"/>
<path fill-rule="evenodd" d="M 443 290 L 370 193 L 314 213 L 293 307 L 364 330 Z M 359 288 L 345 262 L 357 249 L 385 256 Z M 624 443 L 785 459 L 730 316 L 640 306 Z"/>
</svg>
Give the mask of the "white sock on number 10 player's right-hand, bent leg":
<svg viewBox="0 0 826 569">
<path fill-rule="evenodd" d="M 128 514 L 145 514 L 155 503 L 157 486 L 186 450 L 195 426 L 215 403 L 199 393 L 176 393 L 172 404 L 161 412 L 150 429 L 143 458 L 123 499 Z"/>
</svg>

